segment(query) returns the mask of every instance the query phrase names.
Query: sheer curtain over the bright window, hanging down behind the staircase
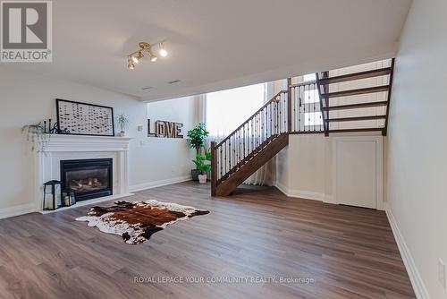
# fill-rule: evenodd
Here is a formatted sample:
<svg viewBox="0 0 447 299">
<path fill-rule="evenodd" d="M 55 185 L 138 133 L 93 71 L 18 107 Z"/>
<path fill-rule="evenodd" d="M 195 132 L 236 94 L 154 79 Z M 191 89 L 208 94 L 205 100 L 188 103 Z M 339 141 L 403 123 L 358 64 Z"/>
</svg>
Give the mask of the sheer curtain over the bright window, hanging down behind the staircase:
<svg viewBox="0 0 447 299">
<path fill-rule="evenodd" d="M 198 103 L 198 115 L 210 132 L 208 141 L 222 141 L 240 124 L 253 115 L 274 94 L 282 90 L 283 81 L 268 82 L 222 90 L 202 96 Z M 276 175 L 276 158 L 272 158 L 257 172 L 249 177 L 245 184 L 273 185 Z"/>
</svg>

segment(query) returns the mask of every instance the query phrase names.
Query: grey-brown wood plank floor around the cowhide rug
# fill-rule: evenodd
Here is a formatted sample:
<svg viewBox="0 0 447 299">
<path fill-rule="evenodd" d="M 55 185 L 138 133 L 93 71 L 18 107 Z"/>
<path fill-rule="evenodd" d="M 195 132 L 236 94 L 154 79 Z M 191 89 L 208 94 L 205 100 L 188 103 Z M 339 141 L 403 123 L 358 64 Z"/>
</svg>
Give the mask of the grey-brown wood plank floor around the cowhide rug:
<svg viewBox="0 0 447 299">
<path fill-rule="evenodd" d="M 209 185 L 192 182 L 127 198 L 147 199 L 210 214 L 139 245 L 74 220 L 89 207 L 0 220 L 0 298 L 415 297 L 382 211 L 291 199 L 267 187 L 212 199 Z M 185 281 L 225 277 L 264 281 Z"/>
</svg>

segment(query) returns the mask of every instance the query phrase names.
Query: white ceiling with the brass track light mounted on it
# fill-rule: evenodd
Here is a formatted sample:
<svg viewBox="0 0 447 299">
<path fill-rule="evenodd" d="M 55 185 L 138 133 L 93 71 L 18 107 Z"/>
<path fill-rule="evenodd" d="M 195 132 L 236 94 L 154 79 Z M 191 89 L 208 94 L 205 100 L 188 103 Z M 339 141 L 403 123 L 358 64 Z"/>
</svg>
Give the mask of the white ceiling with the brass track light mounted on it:
<svg viewBox="0 0 447 299">
<path fill-rule="evenodd" d="M 410 4 L 54 0 L 53 63 L 6 66 L 141 100 L 173 98 L 391 57 Z M 127 69 L 126 56 L 139 41 L 162 39 L 168 57 Z"/>
</svg>

